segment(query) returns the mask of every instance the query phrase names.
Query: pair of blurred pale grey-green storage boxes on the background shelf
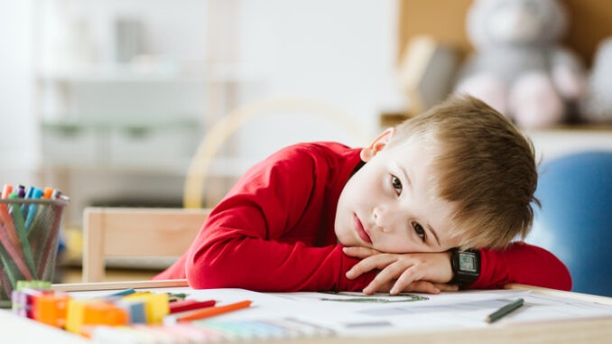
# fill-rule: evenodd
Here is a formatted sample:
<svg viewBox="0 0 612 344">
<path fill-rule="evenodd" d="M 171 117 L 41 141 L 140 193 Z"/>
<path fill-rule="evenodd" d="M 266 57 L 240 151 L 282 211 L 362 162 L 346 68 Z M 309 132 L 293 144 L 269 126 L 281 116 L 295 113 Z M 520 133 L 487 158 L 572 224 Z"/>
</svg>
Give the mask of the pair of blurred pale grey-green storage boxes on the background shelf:
<svg viewBox="0 0 612 344">
<path fill-rule="evenodd" d="M 77 116 L 42 122 L 42 167 L 181 175 L 199 142 L 195 119 Z"/>
</svg>

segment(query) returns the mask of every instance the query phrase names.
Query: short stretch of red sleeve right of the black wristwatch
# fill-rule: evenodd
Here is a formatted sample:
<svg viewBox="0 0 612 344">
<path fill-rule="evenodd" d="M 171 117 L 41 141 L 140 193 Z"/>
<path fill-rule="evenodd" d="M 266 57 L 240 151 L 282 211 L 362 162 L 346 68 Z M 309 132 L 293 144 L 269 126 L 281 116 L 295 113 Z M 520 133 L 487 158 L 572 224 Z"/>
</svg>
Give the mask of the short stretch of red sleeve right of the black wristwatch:
<svg viewBox="0 0 612 344">
<path fill-rule="evenodd" d="M 480 276 L 471 289 L 530 284 L 569 291 L 568 268 L 542 247 L 516 242 L 504 250 L 480 250 Z"/>
</svg>

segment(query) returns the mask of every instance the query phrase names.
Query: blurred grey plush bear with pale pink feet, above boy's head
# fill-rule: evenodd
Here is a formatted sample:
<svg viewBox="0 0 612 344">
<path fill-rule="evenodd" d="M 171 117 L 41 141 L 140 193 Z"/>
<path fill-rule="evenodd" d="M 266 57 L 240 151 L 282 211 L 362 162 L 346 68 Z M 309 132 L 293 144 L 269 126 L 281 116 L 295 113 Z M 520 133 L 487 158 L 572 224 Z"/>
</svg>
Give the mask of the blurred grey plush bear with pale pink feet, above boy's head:
<svg viewBox="0 0 612 344">
<path fill-rule="evenodd" d="M 466 18 L 474 51 L 454 91 L 481 98 L 518 126 L 562 123 L 583 97 L 586 72 L 562 46 L 568 17 L 556 0 L 474 0 Z"/>
</svg>

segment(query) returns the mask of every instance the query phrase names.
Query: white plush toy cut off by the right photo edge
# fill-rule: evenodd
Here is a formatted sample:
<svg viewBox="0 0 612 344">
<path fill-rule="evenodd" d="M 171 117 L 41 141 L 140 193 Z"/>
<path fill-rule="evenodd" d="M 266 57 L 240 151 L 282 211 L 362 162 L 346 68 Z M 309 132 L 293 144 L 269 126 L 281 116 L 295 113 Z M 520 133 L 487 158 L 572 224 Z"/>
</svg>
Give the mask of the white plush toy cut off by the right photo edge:
<svg viewBox="0 0 612 344">
<path fill-rule="evenodd" d="M 589 123 L 612 123 L 612 36 L 599 43 L 589 72 L 580 116 Z"/>
</svg>

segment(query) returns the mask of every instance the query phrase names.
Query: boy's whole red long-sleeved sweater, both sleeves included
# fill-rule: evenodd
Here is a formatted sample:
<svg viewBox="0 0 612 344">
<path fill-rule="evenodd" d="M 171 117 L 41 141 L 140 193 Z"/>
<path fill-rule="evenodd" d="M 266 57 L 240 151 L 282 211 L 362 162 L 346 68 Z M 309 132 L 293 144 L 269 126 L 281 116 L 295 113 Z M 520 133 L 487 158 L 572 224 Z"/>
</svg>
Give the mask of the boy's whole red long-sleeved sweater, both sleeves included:
<svg viewBox="0 0 612 344">
<path fill-rule="evenodd" d="M 261 292 L 362 290 L 375 272 L 348 280 L 345 273 L 358 259 L 342 253 L 333 228 L 359 151 L 336 143 L 295 144 L 257 163 L 212 210 L 185 255 L 154 278 Z M 481 250 L 480 277 L 471 287 L 509 283 L 571 287 L 565 265 L 540 247 Z"/>
</svg>

